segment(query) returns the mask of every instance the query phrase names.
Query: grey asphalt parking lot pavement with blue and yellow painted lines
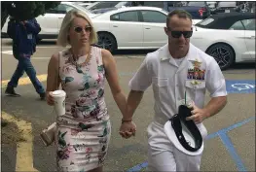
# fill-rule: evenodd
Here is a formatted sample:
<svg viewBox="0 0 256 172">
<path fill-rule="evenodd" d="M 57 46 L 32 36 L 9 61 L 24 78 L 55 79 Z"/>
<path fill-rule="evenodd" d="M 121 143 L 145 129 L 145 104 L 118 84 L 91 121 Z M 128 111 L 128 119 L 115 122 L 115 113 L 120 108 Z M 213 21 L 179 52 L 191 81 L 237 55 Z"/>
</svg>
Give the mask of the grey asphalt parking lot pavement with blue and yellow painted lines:
<svg viewBox="0 0 256 172">
<path fill-rule="evenodd" d="M 37 75 L 46 86 L 47 66 L 57 48 L 54 41 L 41 43 L 32 57 Z M 128 81 L 141 64 L 145 54 L 152 51 L 119 51 L 114 53 L 117 61 L 120 84 L 128 95 Z M 2 113 L 25 120 L 32 125 L 33 168 L 38 171 L 55 170 L 55 148 L 45 148 L 39 133 L 55 120 L 53 108 L 40 101 L 34 87 L 26 80 L 17 87 L 21 97 L 8 97 L 4 87 L 12 77 L 17 60 L 12 55 L 10 40 L 2 40 Z M 255 171 L 255 63 L 237 64 L 224 71 L 229 85 L 228 104 L 218 115 L 204 120 L 208 130 L 205 149 L 201 159 L 201 171 Z M 24 78 L 26 75 L 23 76 Z M 5 84 L 5 85 L 3 85 Z M 245 86 L 246 85 L 246 86 Z M 121 113 L 105 87 L 105 100 L 112 121 L 112 137 L 105 171 L 139 171 L 147 166 L 146 128 L 154 116 L 153 93 L 151 87 L 145 92 L 136 110 L 134 121 L 137 124 L 135 137 L 123 139 L 118 131 Z M 209 100 L 207 94 L 205 103 Z M 2 144 L 2 171 L 15 171 L 18 160 L 17 148 Z M 27 158 L 27 157 L 23 157 Z"/>
</svg>

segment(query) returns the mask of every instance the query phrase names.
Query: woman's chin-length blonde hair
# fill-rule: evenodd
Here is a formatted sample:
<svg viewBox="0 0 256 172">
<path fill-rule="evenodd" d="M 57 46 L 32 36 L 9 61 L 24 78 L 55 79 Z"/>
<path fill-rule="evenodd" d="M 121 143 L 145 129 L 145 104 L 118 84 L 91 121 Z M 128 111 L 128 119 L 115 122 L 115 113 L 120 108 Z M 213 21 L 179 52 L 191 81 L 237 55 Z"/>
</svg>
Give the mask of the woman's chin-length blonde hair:
<svg viewBox="0 0 256 172">
<path fill-rule="evenodd" d="M 69 38 L 68 38 L 68 31 L 70 29 L 71 22 L 75 17 L 82 17 L 89 22 L 89 24 L 91 25 L 90 44 L 97 43 L 97 33 L 95 32 L 95 28 L 93 27 L 91 18 L 88 17 L 88 15 L 82 11 L 71 10 L 63 18 L 63 21 L 61 23 L 61 27 L 57 36 L 57 41 L 56 41 L 57 45 L 66 47 L 68 44 L 70 44 Z"/>
</svg>

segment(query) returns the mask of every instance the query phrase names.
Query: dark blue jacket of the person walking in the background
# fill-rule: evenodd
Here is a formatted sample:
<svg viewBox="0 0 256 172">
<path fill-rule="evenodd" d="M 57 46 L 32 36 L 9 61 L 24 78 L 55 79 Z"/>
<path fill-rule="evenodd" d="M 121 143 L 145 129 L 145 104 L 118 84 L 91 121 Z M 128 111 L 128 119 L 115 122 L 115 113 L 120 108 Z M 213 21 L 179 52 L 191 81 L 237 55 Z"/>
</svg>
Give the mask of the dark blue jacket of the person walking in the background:
<svg viewBox="0 0 256 172">
<path fill-rule="evenodd" d="M 10 18 L 7 34 L 13 39 L 14 55 L 31 56 L 36 52 L 36 37 L 40 31 L 41 27 L 35 18 L 28 19 L 25 24 Z"/>
</svg>

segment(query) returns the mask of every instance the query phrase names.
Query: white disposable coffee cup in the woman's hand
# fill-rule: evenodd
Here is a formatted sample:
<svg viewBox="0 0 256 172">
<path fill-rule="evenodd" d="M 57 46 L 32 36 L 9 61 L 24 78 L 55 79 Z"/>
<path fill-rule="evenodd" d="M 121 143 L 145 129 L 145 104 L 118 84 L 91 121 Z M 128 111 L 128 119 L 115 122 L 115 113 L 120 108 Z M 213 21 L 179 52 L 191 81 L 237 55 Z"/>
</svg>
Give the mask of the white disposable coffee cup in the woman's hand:
<svg viewBox="0 0 256 172">
<path fill-rule="evenodd" d="M 55 90 L 52 92 L 52 95 L 55 99 L 55 114 L 57 116 L 62 116 L 65 114 L 65 99 L 66 92 L 64 90 Z"/>
</svg>

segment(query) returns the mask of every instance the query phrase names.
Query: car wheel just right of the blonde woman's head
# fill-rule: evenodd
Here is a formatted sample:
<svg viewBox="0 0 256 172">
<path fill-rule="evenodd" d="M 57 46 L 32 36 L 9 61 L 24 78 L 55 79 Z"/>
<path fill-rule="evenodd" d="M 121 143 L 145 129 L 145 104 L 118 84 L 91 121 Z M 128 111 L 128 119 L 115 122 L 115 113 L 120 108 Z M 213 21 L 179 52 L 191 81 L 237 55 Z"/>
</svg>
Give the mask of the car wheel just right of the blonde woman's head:
<svg viewBox="0 0 256 172">
<path fill-rule="evenodd" d="M 111 34 L 101 32 L 101 33 L 98 33 L 97 35 L 98 35 L 97 45 L 100 48 L 106 49 L 109 52 L 114 52 L 117 49 L 116 40 Z"/>
</svg>

